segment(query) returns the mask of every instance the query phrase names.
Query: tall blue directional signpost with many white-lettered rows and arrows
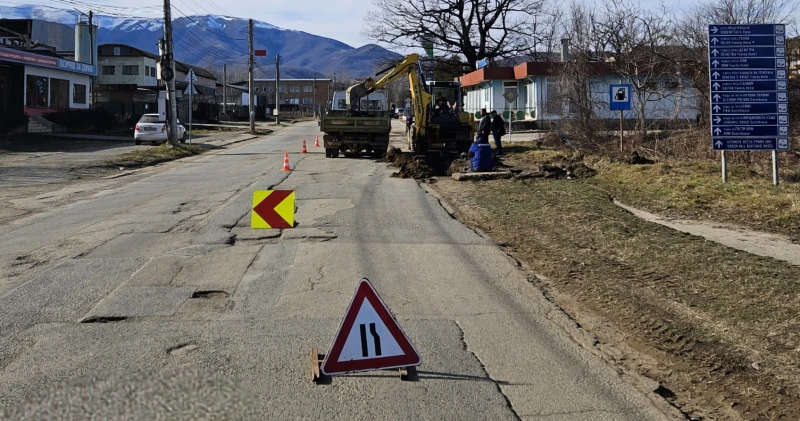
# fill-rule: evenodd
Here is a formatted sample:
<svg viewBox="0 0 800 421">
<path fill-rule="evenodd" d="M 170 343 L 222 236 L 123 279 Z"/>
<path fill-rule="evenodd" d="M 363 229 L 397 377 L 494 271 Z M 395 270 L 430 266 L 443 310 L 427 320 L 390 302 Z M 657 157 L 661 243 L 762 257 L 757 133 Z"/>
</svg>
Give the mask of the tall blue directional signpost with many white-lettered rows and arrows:
<svg viewBox="0 0 800 421">
<path fill-rule="evenodd" d="M 712 148 L 772 151 L 772 178 L 778 184 L 777 151 L 789 150 L 786 27 L 710 25 Z"/>
</svg>

